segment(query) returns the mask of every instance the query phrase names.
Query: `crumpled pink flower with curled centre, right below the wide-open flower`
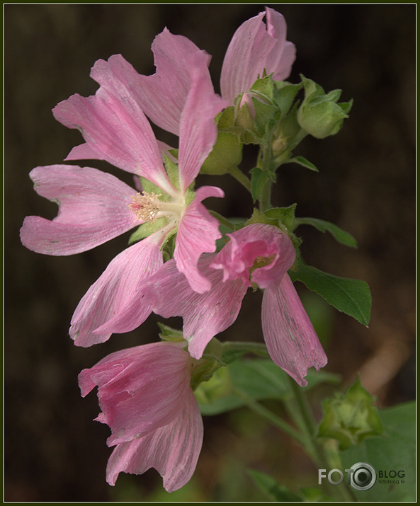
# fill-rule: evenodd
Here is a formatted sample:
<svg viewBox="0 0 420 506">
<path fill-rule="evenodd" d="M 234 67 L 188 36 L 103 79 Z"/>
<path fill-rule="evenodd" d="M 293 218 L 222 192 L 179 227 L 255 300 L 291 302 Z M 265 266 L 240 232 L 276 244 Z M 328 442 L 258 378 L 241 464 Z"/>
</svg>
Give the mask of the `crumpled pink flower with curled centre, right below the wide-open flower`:
<svg viewBox="0 0 420 506">
<path fill-rule="evenodd" d="M 183 317 L 183 335 L 192 357 L 200 358 L 210 340 L 236 320 L 249 287 L 263 289 L 263 337 L 273 362 L 305 386 L 307 369 L 327 364 L 317 333 L 302 306 L 288 269 L 295 261 L 290 238 L 278 227 L 251 224 L 227 234 L 230 241 L 219 253 L 204 254 L 198 268 L 212 288 L 205 294 L 191 290 L 177 272 L 174 260 L 140 283 L 134 304 L 104 326 L 111 332 L 137 327 L 144 301 L 164 318 Z"/>
</svg>

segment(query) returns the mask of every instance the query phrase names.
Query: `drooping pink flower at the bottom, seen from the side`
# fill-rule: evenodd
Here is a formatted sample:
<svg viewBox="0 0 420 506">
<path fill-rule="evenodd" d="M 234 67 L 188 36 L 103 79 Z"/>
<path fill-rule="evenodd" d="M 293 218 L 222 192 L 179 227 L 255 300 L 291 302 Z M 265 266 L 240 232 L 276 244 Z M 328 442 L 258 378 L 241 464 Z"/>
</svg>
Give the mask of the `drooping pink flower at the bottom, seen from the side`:
<svg viewBox="0 0 420 506">
<path fill-rule="evenodd" d="M 81 396 L 98 386 L 109 425 L 106 481 L 153 467 L 173 492 L 193 475 L 203 444 L 203 419 L 191 389 L 194 362 L 181 343 L 152 343 L 111 353 L 79 374 Z"/>
</svg>

